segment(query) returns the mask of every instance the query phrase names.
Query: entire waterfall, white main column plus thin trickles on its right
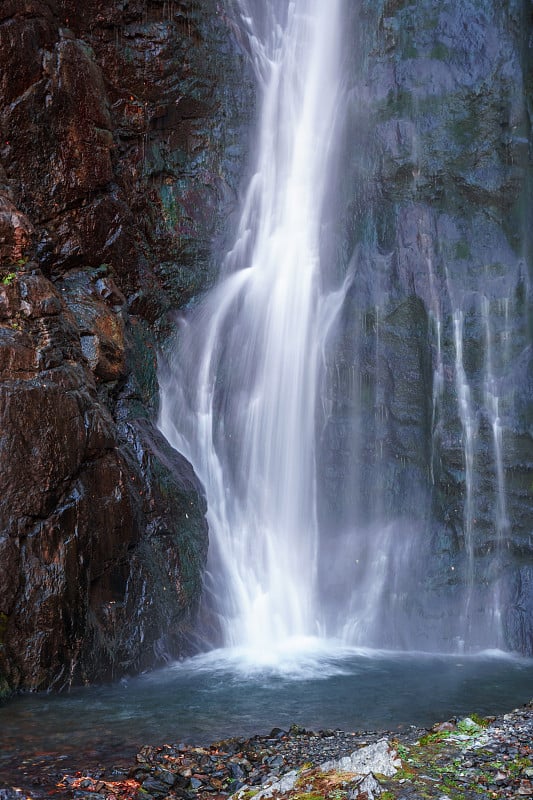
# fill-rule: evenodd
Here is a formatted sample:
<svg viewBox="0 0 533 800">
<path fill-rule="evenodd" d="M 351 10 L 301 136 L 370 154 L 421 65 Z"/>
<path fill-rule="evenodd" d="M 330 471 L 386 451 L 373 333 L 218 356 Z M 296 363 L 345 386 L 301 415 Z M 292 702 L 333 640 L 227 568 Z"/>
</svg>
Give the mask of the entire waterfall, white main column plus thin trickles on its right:
<svg viewBox="0 0 533 800">
<path fill-rule="evenodd" d="M 420 75 L 396 110 L 388 73 L 386 100 L 363 80 L 342 40 L 369 7 L 234 5 L 258 82 L 256 161 L 220 281 L 160 373 L 160 427 L 207 494 L 211 638 L 505 646 L 522 266 L 479 210 L 463 220 L 455 195 L 436 201 Z"/>
</svg>

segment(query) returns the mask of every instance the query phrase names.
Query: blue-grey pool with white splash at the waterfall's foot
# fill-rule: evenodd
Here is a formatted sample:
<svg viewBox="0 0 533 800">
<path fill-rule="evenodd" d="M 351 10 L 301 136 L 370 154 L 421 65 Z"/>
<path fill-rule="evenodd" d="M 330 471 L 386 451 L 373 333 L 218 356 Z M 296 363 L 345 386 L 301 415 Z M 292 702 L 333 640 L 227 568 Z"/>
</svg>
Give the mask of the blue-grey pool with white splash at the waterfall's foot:
<svg viewBox="0 0 533 800">
<path fill-rule="evenodd" d="M 485 653 L 355 650 L 307 639 L 268 657 L 218 650 L 131 680 L 63 695 L 27 695 L 0 708 L 0 781 L 22 762 L 35 774 L 132 763 L 143 743 L 311 729 L 429 726 L 493 714 L 533 697 L 533 661 Z M 44 766 L 43 766 L 44 769 Z"/>
</svg>

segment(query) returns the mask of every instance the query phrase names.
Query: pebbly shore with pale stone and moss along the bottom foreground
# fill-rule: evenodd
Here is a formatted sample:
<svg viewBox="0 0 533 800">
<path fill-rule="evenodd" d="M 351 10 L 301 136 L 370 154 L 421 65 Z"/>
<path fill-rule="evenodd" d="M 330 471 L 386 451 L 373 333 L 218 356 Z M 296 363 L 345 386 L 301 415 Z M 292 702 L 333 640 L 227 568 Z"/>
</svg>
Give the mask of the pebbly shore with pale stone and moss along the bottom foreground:
<svg viewBox="0 0 533 800">
<path fill-rule="evenodd" d="M 533 701 L 498 717 L 430 730 L 313 732 L 293 725 L 209 746 L 145 746 L 135 764 L 48 772 L 0 800 L 479 800 L 533 797 Z"/>
</svg>

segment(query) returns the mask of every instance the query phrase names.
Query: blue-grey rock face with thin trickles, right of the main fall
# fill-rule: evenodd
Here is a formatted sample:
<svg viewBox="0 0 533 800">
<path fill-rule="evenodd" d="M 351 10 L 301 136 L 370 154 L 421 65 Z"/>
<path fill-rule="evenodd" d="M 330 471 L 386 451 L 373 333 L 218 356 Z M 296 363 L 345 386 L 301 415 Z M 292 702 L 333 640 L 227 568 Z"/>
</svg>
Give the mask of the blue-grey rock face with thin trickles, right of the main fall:
<svg viewBox="0 0 533 800">
<path fill-rule="evenodd" d="M 362 639 L 379 644 L 456 647 L 459 631 L 533 652 L 526 5 L 363 0 L 346 26 L 331 224 L 352 283 L 327 365 L 322 524 L 351 543 Z M 333 601 L 351 591 L 327 585 L 336 549 Z"/>
</svg>

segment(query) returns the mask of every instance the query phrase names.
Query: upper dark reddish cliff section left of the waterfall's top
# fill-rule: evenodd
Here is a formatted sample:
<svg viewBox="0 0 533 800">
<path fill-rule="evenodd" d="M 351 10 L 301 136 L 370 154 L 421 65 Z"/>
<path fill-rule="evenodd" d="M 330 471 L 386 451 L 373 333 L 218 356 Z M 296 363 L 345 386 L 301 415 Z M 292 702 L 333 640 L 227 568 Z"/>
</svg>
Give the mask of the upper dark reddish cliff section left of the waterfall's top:
<svg viewBox="0 0 533 800">
<path fill-rule="evenodd" d="M 111 263 L 122 289 L 155 278 L 180 305 L 208 279 L 253 107 L 226 18 L 214 0 L 26 5 L 0 25 L 1 156 L 43 266 Z"/>
</svg>

